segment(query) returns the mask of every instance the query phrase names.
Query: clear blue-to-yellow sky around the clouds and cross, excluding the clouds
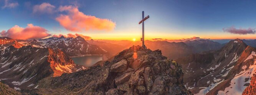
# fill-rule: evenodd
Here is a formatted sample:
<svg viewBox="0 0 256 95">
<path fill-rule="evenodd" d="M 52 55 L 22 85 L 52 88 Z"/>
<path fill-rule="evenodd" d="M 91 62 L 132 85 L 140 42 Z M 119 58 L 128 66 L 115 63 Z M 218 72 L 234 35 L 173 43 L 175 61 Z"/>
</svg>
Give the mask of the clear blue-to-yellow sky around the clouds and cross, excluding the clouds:
<svg viewBox="0 0 256 95">
<path fill-rule="evenodd" d="M 0 6 L 5 1 L 0 1 Z M 129 40 L 141 36 L 141 12 L 150 18 L 145 21 L 147 39 L 181 39 L 199 36 L 211 39 L 255 39 L 256 35 L 223 32 L 223 28 L 255 28 L 256 1 L 253 0 L 8 0 L 17 2 L 14 8 L 0 9 L 0 31 L 14 25 L 40 26 L 51 34 L 79 33 L 95 39 Z M 55 20 L 61 12 L 35 14 L 33 6 L 50 3 L 59 6 L 77 6 L 79 11 L 90 16 L 110 19 L 116 23 L 111 31 L 84 30 L 71 32 Z M 254 30 L 253 30 L 254 31 Z"/>
</svg>

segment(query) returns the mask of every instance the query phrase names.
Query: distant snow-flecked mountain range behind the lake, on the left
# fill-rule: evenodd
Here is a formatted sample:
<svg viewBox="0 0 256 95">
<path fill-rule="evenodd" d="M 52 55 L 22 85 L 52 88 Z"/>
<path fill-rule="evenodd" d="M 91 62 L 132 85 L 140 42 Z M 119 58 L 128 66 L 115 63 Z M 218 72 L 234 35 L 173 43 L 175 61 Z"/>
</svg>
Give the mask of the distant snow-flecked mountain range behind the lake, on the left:
<svg viewBox="0 0 256 95">
<path fill-rule="evenodd" d="M 32 46 L 38 48 L 60 49 L 65 52 L 68 56 L 82 56 L 86 54 L 106 54 L 107 51 L 99 46 L 89 44 L 81 36 L 76 38 L 65 38 L 61 36 L 51 37 L 46 39 L 28 40 L 28 41 L 18 41 L 25 46 Z"/>
</svg>

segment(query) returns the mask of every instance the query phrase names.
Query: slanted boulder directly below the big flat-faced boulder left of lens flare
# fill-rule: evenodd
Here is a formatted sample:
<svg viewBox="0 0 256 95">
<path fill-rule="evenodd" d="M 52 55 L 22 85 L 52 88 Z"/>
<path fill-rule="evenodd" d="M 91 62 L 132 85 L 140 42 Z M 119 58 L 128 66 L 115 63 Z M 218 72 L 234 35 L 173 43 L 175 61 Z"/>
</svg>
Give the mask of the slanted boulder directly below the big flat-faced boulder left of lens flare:
<svg viewBox="0 0 256 95">
<path fill-rule="evenodd" d="M 132 73 L 133 73 L 133 72 L 124 73 L 124 74 L 122 74 L 121 76 L 115 78 L 116 85 L 123 84 L 124 82 L 129 81 L 130 76 L 132 75 Z"/>
</svg>

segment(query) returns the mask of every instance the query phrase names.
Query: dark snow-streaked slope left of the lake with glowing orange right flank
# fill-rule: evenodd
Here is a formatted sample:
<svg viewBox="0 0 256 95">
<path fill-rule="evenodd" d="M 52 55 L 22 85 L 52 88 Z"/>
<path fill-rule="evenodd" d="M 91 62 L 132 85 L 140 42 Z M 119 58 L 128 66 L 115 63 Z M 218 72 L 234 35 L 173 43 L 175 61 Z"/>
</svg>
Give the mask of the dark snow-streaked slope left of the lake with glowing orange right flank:
<svg viewBox="0 0 256 95">
<path fill-rule="evenodd" d="M 59 49 L 9 46 L 0 51 L 0 81 L 12 88 L 34 88 L 48 76 L 82 70 Z"/>
</svg>

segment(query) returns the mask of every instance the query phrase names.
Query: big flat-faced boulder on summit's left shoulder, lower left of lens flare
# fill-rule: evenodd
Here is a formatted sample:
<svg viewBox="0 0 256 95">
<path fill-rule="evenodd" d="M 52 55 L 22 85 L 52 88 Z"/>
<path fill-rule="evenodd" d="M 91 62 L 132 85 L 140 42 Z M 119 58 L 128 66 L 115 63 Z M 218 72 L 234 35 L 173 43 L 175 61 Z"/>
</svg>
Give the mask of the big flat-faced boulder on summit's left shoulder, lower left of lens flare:
<svg viewBox="0 0 256 95">
<path fill-rule="evenodd" d="M 110 68 L 110 71 L 111 72 L 124 72 L 124 71 L 126 71 L 126 68 L 127 68 L 127 61 L 123 59 L 120 62 L 113 64 Z"/>
</svg>

